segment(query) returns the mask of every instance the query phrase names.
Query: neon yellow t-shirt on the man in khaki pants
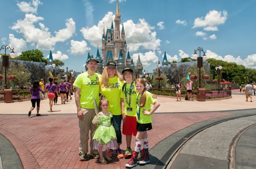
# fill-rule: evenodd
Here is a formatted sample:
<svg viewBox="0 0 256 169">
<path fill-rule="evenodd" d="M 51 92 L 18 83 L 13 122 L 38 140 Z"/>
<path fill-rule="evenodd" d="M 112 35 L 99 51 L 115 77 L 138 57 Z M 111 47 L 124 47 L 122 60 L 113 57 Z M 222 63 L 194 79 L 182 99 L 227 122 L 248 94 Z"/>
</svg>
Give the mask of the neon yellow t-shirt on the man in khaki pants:
<svg viewBox="0 0 256 169">
<path fill-rule="evenodd" d="M 100 77 L 98 73 L 90 76 L 88 72 L 79 74 L 74 82 L 74 86 L 80 88 L 80 106 L 82 108 L 94 108 L 94 96 L 99 105 Z"/>
</svg>

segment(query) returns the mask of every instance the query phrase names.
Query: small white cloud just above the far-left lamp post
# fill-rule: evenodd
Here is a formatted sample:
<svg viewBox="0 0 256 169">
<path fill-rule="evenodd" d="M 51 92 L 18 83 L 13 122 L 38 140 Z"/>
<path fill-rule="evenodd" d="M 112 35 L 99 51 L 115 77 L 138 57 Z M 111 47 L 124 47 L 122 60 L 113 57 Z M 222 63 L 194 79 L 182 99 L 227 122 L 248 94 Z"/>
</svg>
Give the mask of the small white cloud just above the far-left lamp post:
<svg viewBox="0 0 256 169">
<path fill-rule="evenodd" d="M 13 34 L 9 34 L 9 41 L 11 48 L 14 48 L 16 56 L 19 56 L 27 48 L 26 41 L 23 39 L 15 38 Z"/>
</svg>

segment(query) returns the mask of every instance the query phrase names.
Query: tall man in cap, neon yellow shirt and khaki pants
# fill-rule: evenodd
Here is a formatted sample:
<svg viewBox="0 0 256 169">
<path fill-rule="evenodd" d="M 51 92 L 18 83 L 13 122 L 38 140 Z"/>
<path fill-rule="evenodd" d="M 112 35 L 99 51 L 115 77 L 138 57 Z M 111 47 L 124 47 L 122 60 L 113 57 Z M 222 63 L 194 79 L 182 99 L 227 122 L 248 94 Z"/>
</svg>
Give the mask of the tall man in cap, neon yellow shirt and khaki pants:
<svg viewBox="0 0 256 169">
<path fill-rule="evenodd" d="M 88 140 L 90 131 L 90 154 L 93 158 L 99 158 L 98 150 L 93 150 L 92 135 L 96 130 L 95 125 L 92 123 L 95 116 L 94 101 L 95 98 L 99 105 L 99 84 L 100 74 L 94 73 L 97 69 L 98 61 L 95 58 L 90 58 L 87 61 L 88 71 L 79 74 L 74 82 L 75 89 L 75 101 L 77 108 L 77 116 L 79 119 L 80 128 L 80 148 L 79 148 L 79 160 L 87 160 L 88 152 Z M 93 97 L 92 97 L 93 95 Z"/>
</svg>

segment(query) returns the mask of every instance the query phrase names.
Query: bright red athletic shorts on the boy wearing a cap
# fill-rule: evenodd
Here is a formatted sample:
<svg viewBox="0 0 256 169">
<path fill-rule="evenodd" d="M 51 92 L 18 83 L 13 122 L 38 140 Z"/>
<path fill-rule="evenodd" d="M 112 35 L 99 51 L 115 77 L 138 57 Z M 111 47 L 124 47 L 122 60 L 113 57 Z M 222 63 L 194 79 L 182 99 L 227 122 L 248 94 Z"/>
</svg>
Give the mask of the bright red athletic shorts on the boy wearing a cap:
<svg viewBox="0 0 256 169">
<path fill-rule="evenodd" d="M 127 116 L 126 123 L 123 123 L 123 134 L 124 135 L 134 135 L 137 134 L 137 119 L 136 116 Z"/>
</svg>

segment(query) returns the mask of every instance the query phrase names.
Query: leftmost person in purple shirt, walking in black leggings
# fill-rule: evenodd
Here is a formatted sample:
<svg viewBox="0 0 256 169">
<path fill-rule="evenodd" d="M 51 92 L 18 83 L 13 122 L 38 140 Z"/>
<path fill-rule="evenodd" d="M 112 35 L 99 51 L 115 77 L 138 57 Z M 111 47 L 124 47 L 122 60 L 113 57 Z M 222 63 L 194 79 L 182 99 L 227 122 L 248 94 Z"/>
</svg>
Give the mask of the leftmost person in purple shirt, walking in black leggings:
<svg viewBox="0 0 256 169">
<path fill-rule="evenodd" d="M 40 91 L 44 93 L 44 90 L 39 86 L 39 81 L 34 81 L 33 85 L 30 87 L 29 92 L 31 94 L 31 103 L 32 107 L 28 112 L 28 117 L 31 115 L 31 111 L 34 110 L 35 104 L 37 103 L 37 116 L 40 116 L 39 109 L 40 109 Z"/>
</svg>

